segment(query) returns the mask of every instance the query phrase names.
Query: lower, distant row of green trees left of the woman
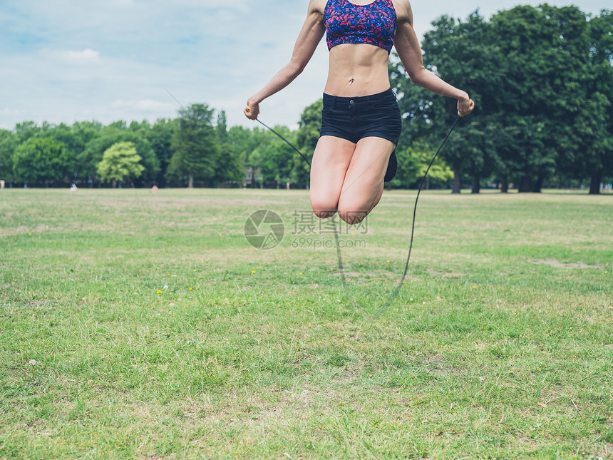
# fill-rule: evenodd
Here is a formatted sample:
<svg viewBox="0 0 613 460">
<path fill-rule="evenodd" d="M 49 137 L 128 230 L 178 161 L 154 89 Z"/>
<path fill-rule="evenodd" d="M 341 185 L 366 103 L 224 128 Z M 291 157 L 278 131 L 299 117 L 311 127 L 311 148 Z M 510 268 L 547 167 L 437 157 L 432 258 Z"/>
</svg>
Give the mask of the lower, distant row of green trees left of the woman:
<svg viewBox="0 0 613 460">
<path fill-rule="evenodd" d="M 300 133 L 284 126 L 275 129 L 299 142 Z M 30 187 L 285 188 L 292 183 L 305 188 L 309 170 L 294 153 L 270 131 L 229 128 L 225 111 L 195 103 L 182 108 L 177 118 L 153 124 L 26 121 L 12 131 L 0 130 L 0 180 L 6 186 Z"/>
</svg>

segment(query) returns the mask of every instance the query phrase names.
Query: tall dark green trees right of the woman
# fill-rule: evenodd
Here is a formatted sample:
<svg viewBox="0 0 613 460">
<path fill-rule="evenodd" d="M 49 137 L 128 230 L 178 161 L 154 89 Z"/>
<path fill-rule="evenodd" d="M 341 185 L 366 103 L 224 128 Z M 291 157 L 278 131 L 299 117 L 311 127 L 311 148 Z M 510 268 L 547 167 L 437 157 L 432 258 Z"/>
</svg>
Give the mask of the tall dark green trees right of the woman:
<svg viewBox="0 0 613 460">
<path fill-rule="evenodd" d="M 474 193 L 484 180 L 520 192 L 586 181 L 590 193 L 612 180 L 611 11 L 542 4 L 489 21 L 476 11 L 465 21 L 441 16 L 422 49 L 428 68 L 476 103 L 443 150 L 455 192 L 466 179 Z M 405 116 L 399 150 L 431 150 L 455 119 L 454 101 L 412 85 L 399 63 L 390 72 Z"/>
</svg>

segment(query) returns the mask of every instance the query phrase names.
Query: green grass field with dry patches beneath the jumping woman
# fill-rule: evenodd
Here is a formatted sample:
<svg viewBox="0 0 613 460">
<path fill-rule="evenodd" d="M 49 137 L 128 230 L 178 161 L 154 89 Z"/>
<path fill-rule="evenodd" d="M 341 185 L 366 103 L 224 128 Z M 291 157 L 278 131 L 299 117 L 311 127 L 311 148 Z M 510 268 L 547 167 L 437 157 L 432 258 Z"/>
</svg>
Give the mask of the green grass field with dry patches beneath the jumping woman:
<svg viewBox="0 0 613 460">
<path fill-rule="evenodd" d="M 0 459 L 613 459 L 613 197 L 414 197 L 1 190 Z"/>
</svg>

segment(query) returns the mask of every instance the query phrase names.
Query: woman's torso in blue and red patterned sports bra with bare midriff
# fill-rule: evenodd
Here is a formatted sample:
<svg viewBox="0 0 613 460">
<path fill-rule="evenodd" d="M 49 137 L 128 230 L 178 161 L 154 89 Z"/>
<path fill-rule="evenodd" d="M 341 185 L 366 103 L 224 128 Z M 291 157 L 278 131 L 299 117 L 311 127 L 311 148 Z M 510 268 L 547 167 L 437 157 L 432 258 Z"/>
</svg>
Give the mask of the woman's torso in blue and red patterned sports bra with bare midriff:
<svg viewBox="0 0 613 460">
<path fill-rule="evenodd" d="M 330 47 L 324 92 L 348 97 L 386 91 L 397 21 L 393 1 L 322 0 L 320 5 Z"/>
</svg>

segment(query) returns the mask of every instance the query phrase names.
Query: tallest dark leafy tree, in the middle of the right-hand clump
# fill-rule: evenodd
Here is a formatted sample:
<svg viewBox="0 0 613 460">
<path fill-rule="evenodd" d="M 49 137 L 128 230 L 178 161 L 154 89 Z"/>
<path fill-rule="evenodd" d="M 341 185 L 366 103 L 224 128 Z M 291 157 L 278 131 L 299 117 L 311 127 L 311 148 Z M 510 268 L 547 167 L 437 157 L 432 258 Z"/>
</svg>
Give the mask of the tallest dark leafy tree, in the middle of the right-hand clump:
<svg viewBox="0 0 613 460">
<path fill-rule="evenodd" d="M 586 100 L 587 18 L 576 6 L 517 6 L 492 17 L 490 40 L 504 53 L 501 101 L 517 149 L 505 163 L 520 192 L 539 192 L 557 165 L 580 155 L 577 116 Z"/>
</svg>

